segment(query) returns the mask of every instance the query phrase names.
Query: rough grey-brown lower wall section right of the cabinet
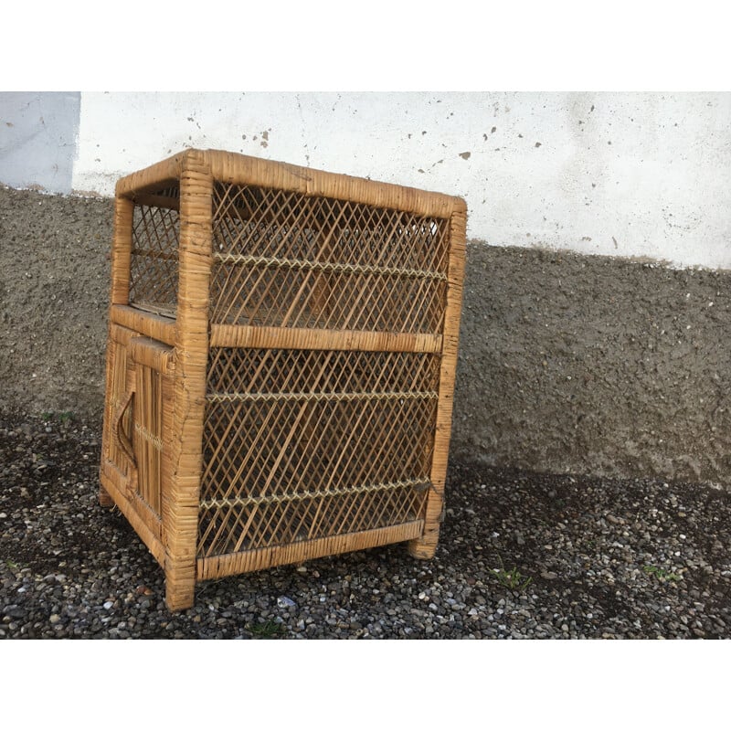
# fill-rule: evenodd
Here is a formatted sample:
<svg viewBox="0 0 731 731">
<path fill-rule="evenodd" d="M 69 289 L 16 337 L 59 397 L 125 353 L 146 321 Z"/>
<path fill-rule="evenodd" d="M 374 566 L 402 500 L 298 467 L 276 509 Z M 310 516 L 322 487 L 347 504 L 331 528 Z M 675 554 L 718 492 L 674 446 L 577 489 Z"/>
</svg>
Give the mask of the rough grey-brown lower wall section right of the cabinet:
<svg viewBox="0 0 731 731">
<path fill-rule="evenodd" d="M 731 272 L 468 249 L 453 452 L 731 480 Z"/>
</svg>

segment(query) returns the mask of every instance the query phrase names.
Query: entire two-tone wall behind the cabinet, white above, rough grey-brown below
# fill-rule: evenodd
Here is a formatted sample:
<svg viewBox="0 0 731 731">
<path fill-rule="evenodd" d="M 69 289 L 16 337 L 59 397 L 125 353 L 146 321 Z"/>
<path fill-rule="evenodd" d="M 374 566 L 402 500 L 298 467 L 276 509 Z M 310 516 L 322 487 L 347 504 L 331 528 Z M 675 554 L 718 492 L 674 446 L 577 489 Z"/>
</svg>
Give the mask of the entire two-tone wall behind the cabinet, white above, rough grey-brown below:
<svg viewBox="0 0 731 731">
<path fill-rule="evenodd" d="M 465 195 L 454 459 L 731 484 L 729 99 L 82 94 L 71 186 L 190 144 Z M 107 197 L 0 188 L 0 408 L 98 423 L 110 240 Z"/>
</svg>

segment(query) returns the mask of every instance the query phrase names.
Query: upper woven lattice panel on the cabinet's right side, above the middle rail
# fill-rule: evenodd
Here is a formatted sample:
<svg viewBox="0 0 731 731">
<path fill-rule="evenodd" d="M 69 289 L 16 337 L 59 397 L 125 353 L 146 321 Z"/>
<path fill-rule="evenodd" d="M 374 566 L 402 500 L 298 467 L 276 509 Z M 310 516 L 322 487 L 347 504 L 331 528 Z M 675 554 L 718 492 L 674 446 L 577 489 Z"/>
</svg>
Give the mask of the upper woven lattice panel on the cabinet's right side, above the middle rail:
<svg viewBox="0 0 731 731">
<path fill-rule="evenodd" d="M 446 219 L 217 184 L 213 236 L 213 323 L 441 330 Z"/>
</svg>

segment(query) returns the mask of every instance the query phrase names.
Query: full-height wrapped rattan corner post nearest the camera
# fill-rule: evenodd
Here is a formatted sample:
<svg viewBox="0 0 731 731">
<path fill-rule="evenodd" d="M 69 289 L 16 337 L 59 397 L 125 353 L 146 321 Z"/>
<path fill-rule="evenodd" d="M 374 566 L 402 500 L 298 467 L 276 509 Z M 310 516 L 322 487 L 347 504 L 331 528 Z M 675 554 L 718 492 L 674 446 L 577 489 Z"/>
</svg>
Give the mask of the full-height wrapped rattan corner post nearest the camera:
<svg viewBox="0 0 731 731">
<path fill-rule="evenodd" d="M 175 413 L 170 489 L 163 495 L 165 602 L 193 606 L 203 462 L 208 355 L 213 177 L 200 151 L 189 150 L 180 175 L 180 268 L 175 323 Z"/>
</svg>

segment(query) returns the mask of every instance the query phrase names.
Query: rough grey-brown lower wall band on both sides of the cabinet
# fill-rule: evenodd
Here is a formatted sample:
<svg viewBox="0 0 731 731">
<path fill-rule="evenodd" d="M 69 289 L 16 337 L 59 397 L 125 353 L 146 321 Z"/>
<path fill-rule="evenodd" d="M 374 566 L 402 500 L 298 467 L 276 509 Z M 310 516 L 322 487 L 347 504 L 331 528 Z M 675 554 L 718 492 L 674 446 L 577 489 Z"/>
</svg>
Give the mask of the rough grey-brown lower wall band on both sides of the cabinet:
<svg viewBox="0 0 731 731">
<path fill-rule="evenodd" d="M 0 399 L 100 426 L 111 201 L 0 188 Z M 731 272 L 472 243 L 452 454 L 731 483 Z"/>
</svg>

